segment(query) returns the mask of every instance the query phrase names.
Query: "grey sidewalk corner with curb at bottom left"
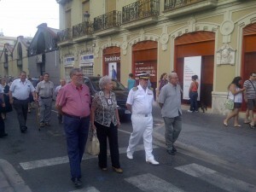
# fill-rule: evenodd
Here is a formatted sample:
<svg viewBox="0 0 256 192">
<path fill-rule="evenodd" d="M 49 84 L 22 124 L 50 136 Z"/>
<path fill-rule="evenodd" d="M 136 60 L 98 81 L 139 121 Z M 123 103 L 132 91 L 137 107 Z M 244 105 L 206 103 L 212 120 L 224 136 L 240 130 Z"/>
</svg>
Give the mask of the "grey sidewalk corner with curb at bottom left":
<svg viewBox="0 0 256 192">
<path fill-rule="evenodd" d="M 32 192 L 14 166 L 0 159 L 0 191 Z"/>
</svg>

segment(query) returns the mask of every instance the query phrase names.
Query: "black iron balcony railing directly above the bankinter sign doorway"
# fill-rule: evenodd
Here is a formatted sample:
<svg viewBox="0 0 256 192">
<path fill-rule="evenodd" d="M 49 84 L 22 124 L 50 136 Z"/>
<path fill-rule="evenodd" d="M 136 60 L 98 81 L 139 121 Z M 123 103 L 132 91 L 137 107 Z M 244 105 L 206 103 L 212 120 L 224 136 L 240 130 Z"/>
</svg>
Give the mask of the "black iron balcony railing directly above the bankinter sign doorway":
<svg viewBox="0 0 256 192">
<path fill-rule="evenodd" d="M 117 10 L 113 10 L 108 14 L 104 14 L 94 18 L 93 28 L 94 31 L 100 31 L 104 29 L 111 28 L 113 26 L 121 25 L 121 12 Z"/>
</svg>

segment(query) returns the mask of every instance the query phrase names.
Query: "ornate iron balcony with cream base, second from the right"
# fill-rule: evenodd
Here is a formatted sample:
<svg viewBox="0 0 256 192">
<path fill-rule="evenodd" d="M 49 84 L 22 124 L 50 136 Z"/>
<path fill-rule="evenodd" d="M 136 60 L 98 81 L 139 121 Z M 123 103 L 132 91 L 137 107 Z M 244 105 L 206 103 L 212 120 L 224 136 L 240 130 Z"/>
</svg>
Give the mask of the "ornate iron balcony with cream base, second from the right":
<svg viewBox="0 0 256 192">
<path fill-rule="evenodd" d="M 159 0 L 140 0 L 123 7 L 122 26 L 130 29 L 157 22 L 160 14 Z"/>
</svg>

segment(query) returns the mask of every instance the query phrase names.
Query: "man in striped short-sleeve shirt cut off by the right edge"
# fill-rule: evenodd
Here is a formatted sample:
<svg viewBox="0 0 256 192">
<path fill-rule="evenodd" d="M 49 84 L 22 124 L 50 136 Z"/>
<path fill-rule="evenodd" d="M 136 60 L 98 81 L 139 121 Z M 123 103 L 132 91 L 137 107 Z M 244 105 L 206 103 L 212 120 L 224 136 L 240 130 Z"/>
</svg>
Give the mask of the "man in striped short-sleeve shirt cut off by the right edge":
<svg viewBox="0 0 256 192">
<path fill-rule="evenodd" d="M 251 128 L 253 128 L 253 110 L 256 107 L 256 72 L 250 74 L 250 78 L 244 82 L 243 87 L 246 88 L 246 90 L 243 92 L 243 96 L 245 102 L 247 102 L 247 112 L 244 123 L 249 123 Z M 251 121 L 248 119 L 248 117 L 250 117 Z"/>
</svg>

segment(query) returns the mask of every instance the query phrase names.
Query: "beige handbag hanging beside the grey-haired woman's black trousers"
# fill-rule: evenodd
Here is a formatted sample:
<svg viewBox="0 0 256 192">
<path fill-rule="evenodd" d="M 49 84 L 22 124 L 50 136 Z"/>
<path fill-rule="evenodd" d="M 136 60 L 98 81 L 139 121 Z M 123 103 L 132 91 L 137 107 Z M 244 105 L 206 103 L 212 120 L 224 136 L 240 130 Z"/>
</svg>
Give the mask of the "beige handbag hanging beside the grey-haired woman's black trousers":
<svg viewBox="0 0 256 192">
<path fill-rule="evenodd" d="M 100 143 L 96 135 L 96 130 L 90 131 L 86 144 L 86 152 L 91 155 L 100 154 Z"/>
</svg>

